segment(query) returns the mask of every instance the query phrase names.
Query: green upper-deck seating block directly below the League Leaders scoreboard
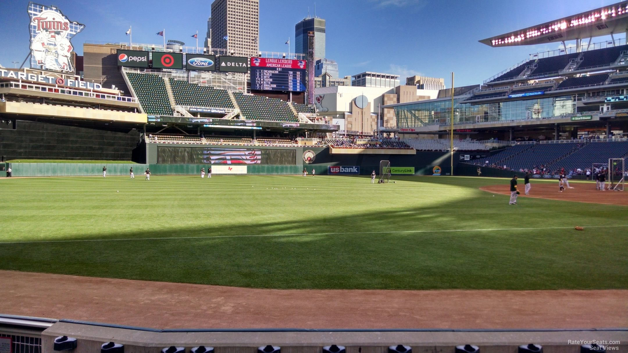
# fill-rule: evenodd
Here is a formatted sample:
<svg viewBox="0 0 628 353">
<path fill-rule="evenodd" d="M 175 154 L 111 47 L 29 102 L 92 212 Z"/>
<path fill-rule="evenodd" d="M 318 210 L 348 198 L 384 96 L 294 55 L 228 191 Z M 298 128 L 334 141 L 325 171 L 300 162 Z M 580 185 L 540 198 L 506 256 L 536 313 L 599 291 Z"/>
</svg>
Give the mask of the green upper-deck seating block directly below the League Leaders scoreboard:
<svg viewBox="0 0 628 353">
<path fill-rule="evenodd" d="M 246 95 L 234 92 L 240 112 L 251 120 L 268 120 L 279 122 L 298 122 L 295 113 L 288 103 L 276 98 L 267 98 L 258 95 Z"/>
</svg>

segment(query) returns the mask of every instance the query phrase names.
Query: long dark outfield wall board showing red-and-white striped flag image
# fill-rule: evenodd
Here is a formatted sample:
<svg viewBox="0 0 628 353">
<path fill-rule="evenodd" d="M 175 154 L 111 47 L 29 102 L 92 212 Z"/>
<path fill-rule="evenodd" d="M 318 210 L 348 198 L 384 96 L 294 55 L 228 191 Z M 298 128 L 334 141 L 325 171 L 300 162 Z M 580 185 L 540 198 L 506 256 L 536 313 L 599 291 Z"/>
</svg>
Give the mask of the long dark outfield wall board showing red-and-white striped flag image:
<svg viewBox="0 0 628 353">
<path fill-rule="evenodd" d="M 296 150 L 158 147 L 158 164 L 296 164 Z"/>
</svg>

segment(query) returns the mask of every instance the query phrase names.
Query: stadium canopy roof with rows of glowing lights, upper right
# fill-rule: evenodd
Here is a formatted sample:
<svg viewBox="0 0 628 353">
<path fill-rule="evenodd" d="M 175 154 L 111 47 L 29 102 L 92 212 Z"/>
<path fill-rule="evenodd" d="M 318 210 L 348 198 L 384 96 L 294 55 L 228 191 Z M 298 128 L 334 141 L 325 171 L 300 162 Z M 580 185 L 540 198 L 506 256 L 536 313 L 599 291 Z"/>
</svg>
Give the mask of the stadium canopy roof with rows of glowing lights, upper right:
<svg viewBox="0 0 628 353">
<path fill-rule="evenodd" d="M 628 1 L 480 40 L 492 47 L 582 40 L 628 31 Z"/>
</svg>

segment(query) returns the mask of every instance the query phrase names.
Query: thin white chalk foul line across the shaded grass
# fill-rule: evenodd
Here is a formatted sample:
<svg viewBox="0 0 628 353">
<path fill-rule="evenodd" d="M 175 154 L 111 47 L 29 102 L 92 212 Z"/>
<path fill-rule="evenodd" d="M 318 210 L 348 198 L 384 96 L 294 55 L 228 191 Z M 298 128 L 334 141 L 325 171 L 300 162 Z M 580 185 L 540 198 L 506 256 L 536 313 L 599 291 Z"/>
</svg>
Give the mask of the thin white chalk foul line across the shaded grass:
<svg viewBox="0 0 628 353">
<path fill-rule="evenodd" d="M 583 228 L 628 227 L 618 226 L 583 226 Z M 0 244 L 33 244 L 33 243 L 81 243 L 84 241 L 131 241 L 131 240 L 173 240 L 173 239 L 212 239 L 212 238 L 253 238 L 262 236 L 303 236 L 303 235 L 345 235 L 345 234 L 382 234 L 382 233 L 448 233 L 461 231 L 517 231 L 541 229 L 571 229 L 574 227 L 538 227 L 538 228 L 486 228 L 486 229 L 444 229 L 422 231 L 362 231 L 343 233 L 301 233 L 301 234 L 249 234 L 249 235 L 216 235 L 216 236 L 168 236 L 163 238 L 120 238 L 120 239 L 79 239 L 79 240 L 40 240 L 40 241 L 0 241 Z"/>
</svg>

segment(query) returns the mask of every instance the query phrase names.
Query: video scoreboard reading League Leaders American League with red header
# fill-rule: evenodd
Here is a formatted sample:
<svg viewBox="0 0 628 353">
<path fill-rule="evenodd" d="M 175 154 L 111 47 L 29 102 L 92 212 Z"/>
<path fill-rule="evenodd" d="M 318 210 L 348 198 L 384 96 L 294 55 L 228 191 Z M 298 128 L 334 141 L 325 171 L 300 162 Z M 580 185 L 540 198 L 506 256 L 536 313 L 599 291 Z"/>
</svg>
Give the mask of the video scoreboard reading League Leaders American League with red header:
<svg viewBox="0 0 628 353">
<path fill-rule="evenodd" d="M 251 90 L 305 92 L 306 61 L 251 58 Z"/>
</svg>

